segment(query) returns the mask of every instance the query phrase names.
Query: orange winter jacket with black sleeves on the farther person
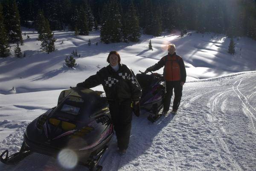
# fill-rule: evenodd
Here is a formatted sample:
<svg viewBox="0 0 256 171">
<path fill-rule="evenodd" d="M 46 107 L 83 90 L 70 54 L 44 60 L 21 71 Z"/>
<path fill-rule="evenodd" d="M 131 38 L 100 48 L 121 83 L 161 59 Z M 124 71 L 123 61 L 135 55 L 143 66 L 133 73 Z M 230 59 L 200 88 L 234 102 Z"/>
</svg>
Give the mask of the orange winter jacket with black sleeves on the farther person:
<svg viewBox="0 0 256 171">
<path fill-rule="evenodd" d="M 147 68 L 148 71 L 156 71 L 163 68 L 163 76 L 166 81 L 186 82 L 186 68 L 182 57 L 174 54 L 167 54 L 154 66 Z"/>
</svg>

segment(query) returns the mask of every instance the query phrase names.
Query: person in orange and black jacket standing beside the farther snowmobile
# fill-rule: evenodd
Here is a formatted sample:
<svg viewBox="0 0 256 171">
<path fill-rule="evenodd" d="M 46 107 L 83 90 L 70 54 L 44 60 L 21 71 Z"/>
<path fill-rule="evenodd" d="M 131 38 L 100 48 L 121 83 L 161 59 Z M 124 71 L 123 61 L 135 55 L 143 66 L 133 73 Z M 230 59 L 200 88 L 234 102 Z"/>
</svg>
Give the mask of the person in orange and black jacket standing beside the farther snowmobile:
<svg viewBox="0 0 256 171">
<path fill-rule="evenodd" d="M 175 45 L 169 44 L 168 54 L 145 71 L 145 73 L 148 71 L 156 71 L 164 66 L 163 76 L 166 80 L 166 96 L 163 104 L 163 115 L 166 115 L 169 111 L 173 89 L 175 97 L 173 100 L 172 113 L 176 114 L 180 105 L 182 88 L 186 82 L 186 68 L 183 59 L 177 55 L 175 51 Z"/>
</svg>

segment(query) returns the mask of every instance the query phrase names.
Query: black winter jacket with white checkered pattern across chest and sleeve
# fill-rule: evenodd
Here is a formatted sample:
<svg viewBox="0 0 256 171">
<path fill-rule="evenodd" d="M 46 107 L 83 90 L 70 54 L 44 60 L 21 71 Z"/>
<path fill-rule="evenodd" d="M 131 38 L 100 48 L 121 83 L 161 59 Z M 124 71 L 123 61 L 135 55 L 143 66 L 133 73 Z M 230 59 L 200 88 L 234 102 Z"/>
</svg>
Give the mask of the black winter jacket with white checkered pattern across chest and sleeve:
<svg viewBox="0 0 256 171">
<path fill-rule="evenodd" d="M 93 88 L 102 84 L 108 100 L 131 99 L 139 101 L 142 91 L 134 72 L 126 65 L 119 63 L 119 70 L 114 71 L 108 65 L 100 69 L 95 75 L 90 76 L 77 87 Z"/>
</svg>

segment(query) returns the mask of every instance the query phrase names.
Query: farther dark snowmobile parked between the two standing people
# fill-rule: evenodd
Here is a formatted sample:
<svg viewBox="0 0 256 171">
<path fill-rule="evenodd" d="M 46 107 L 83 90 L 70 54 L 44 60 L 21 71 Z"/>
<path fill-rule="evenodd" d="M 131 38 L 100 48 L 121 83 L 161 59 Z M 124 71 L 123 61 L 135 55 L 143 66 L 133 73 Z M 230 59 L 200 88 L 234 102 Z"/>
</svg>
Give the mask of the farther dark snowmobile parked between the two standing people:
<svg viewBox="0 0 256 171">
<path fill-rule="evenodd" d="M 151 113 L 148 120 L 152 123 L 158 120 L 162 114 L 159 114 L 163 108 L 163 99 L 165 97 L 165 82 L 163 75 L 152 73 L 150 75 L 141 72 L 136 74 L 137 80 L 142 88 L 140 99 L 140 108 Z"/>
</svg>

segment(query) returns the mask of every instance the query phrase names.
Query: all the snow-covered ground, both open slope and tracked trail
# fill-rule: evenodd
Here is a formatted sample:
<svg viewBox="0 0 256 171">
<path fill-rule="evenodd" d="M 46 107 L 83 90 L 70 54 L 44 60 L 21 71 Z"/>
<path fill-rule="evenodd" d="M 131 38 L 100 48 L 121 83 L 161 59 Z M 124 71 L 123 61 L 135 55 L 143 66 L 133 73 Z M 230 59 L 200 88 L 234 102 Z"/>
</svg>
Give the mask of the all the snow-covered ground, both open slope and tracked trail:
<svg viewBox="0 0 256 171">
<path fill-rule="evenodd" d="M 121 62 L 138 73 L 166 54 L 166 44 L 175 43 L 188 75 L 179 112 L 154 124 L 147 120 L 147 113 L 134 117 L 127 153 L 116 153 L 113 137 L 101 161 L 103 169 L 256 170 L 256 41 L 241 37 L 236 40 L 236 54 L 230 55 L 229 38 L 223 35 L 203 37 L 192 32 L 181 38 L 174 32 L 161 37 L 142 35 L 139 43 L 105 45 L 97 31 L 78 38 L 73 32 L 56 31 L 58 50 L 47 54 L 39 51 L 35 33 L 23 32 L 31 37 L 21 46 L 26 57 L 0 59 L 0 152 L 19 151 L 26 125 L 55 106 L 62 89 L 106 66 L 109 51 L 119 51 Z M 154 51 L 147 50 L 149 39 Z M 81 55 L 77 68 L 63 67 L 65 57 L 76 49 Z M 52 157 L 32 154 L 17 165 L 0 163 L 0 170 L 66 169 Z"/>
</svg>

